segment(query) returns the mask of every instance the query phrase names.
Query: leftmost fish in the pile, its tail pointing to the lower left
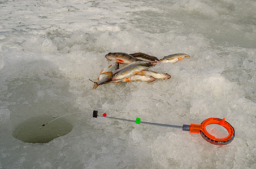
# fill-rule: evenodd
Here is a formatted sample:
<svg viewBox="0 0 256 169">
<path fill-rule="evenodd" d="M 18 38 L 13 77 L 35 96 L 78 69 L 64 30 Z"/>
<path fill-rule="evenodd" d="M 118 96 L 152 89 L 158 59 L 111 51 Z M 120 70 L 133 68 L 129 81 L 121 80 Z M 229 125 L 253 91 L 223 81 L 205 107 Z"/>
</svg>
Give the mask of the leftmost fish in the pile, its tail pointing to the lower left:
<svg viewBox="0 0 256 169">
<path fill-rule="evenodd" d="M 94 83 L 93 90 L 96 89 L 99 85 L 104 84 L 105 82 L 111 81 L 112 75 L 109 72 L 114 71 L 118 68 L 119 68 L 119 63 L 111 64 L 107 66 L 105 69 L 103 69 L 101 73 L 99 73 L 97 82 L 94 82 L 91 79 L 89 79 Z"/>
</svg>

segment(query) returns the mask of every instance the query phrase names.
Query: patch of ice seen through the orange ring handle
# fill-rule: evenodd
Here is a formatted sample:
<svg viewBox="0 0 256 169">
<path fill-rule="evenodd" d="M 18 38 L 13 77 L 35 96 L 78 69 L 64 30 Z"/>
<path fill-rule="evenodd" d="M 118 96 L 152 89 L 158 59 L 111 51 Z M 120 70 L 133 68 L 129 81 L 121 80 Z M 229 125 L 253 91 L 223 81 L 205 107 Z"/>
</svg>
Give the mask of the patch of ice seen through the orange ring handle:
<svg viewBox="0 0 256 169">
<path fill-rule="evenodd" d="M 206 126 L 206 131 L 210 135 L 216 137 L 217 139 L 223 139 L 228 136 L 228 131 L 223 126 L 219 124 L 209 124 Z"/>
</svg>

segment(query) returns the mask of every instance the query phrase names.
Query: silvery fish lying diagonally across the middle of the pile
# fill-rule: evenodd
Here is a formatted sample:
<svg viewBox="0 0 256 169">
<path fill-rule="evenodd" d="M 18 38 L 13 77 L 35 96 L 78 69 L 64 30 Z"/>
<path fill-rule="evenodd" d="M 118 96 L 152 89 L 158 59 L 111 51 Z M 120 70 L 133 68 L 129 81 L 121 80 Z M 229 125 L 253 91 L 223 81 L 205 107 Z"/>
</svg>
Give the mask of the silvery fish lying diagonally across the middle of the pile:
<svg viewBox="0 0 256 169">
<path fill-rule="evenodd" d="M 149 69 L 149 67 L 147 67 L 147 66 L 141 66 L 141 65 L 130 66 L 130 67 L 123 69 L 120 72 L 114 74 L 112 77 L 112 81 L 130 77 L 133 74 L 137 74 L 141 71 L 148 70 L 148 69 Z"/>
</svg>

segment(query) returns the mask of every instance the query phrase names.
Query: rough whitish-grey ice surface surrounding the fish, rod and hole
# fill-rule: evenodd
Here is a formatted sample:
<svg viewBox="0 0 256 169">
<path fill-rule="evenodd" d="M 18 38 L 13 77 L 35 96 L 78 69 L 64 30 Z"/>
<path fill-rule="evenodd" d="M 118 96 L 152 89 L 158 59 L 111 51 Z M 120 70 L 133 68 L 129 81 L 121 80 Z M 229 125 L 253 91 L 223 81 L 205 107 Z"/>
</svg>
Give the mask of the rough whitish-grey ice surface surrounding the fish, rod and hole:
<svg viewBox="0 0 256 169">
<path fill-rule="evenodd" d="M 0 168 L 256 168 L 254 1 L 0 2 Z M 168 80 L 103 84 L 109 52 L 185 53 L 151 70 Z M 232 143 L 141 121 L 225 118 Z M 72 131 L 46 144 L 12 136 L 38 115 L 64 114 Z"/>
</svg>

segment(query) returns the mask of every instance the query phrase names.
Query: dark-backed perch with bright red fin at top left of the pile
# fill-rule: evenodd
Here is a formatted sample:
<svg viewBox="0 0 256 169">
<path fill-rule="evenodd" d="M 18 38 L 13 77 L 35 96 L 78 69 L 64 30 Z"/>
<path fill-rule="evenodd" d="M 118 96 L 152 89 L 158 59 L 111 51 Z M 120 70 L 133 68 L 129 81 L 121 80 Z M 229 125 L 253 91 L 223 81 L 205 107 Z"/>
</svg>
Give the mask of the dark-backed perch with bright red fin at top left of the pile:
<svg viewBox="0 0 256 169">
<path fill-rule="evenodd" d="M 105 57 L 109 60 L 113 60 L 116 63 L 120 63 L 120 64 L 129 64 L 133 62 L 143 61 L 143 60 L 137 59 L 136 57 L 133 57 L 132 55 L 122 53 L 122 52 L 109 53 L 105 55 Z"/>
</svg>

